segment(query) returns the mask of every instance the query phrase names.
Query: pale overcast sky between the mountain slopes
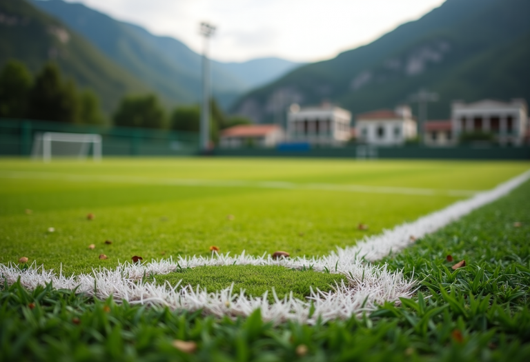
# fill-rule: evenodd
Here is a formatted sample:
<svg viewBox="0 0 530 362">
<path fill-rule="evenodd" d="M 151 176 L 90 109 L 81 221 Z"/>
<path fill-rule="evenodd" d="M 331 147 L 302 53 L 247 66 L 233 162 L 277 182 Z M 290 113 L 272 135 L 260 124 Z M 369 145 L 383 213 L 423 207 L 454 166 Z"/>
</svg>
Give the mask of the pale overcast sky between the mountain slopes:
<svg viewBox="0 0 530 362">
<path fill-rule="evenodd" d="M 444 0 L 67 0 L 169 35 L 202 51 L 199 23 L 217 26 L 221 61 L 282 57 L 318 61 L 369 43 Z"/>
</svg>

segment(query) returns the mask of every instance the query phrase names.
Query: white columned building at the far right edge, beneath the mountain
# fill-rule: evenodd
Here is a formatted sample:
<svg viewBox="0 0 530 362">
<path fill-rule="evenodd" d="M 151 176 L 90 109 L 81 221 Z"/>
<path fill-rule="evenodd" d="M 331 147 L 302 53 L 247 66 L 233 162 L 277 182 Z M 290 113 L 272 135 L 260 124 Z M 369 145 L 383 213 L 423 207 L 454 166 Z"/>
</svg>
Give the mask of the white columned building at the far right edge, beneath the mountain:
<svg viewBox="0 0 530 362">
<path fill-rule="evenodd" d="M 501 145 L 520 145 L 527 132 L 528 108 L 523 99 L 509 103 L 485 99 L 466 104 L 455 101 L 451 106 L 453 137 L 462 132 L 493 133 Z"/>
</svg>

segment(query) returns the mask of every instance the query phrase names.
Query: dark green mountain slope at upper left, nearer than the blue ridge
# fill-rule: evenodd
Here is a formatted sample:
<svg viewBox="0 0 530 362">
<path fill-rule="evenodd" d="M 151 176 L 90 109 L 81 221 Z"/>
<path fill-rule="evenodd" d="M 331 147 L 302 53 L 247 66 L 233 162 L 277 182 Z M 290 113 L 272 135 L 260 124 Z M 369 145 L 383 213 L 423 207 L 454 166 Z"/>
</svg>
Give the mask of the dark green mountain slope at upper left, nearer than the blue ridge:
<svg viewBox="0 0 530 362">
<path fill-rule="evenodd" d="M 23 0 L 0 1 L 0 66 L 9 59 L 23 61 L 32 72 L 55 61 L 78 86 L 95 90 L 107 113 L 124 94 L 149 90 L 83 37 Z"/>
</svg>

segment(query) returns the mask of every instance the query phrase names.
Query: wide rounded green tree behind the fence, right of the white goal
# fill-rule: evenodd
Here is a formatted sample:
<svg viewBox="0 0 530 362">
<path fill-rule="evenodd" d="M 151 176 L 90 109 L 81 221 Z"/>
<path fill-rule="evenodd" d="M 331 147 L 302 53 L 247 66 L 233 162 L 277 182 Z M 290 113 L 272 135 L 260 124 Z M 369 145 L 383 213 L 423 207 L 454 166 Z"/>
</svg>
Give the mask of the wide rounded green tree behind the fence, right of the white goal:
<svg viewBox="0 0 530 362">
<path fill-rule="evenodd" d="M 115 125 L 166 128 L 166 114 L 155 94 L 125 97 L 113 119 Z"/>
</svg>

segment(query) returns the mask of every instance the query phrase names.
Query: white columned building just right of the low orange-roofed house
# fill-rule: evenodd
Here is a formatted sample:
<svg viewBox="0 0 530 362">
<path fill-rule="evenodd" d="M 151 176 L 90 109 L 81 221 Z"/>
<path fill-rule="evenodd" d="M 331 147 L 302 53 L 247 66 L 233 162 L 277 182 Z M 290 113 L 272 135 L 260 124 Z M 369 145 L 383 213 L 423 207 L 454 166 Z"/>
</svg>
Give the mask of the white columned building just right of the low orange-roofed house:
<svg viewBox="0 0 530 362">
<path fill-rule="evenodd" d="M 334 105 L 300 108 L 291 105 L 287 114 L 289 141 L 313 145 L 341 145 L 349 141 L 351 113 Z"/>
</svg>

